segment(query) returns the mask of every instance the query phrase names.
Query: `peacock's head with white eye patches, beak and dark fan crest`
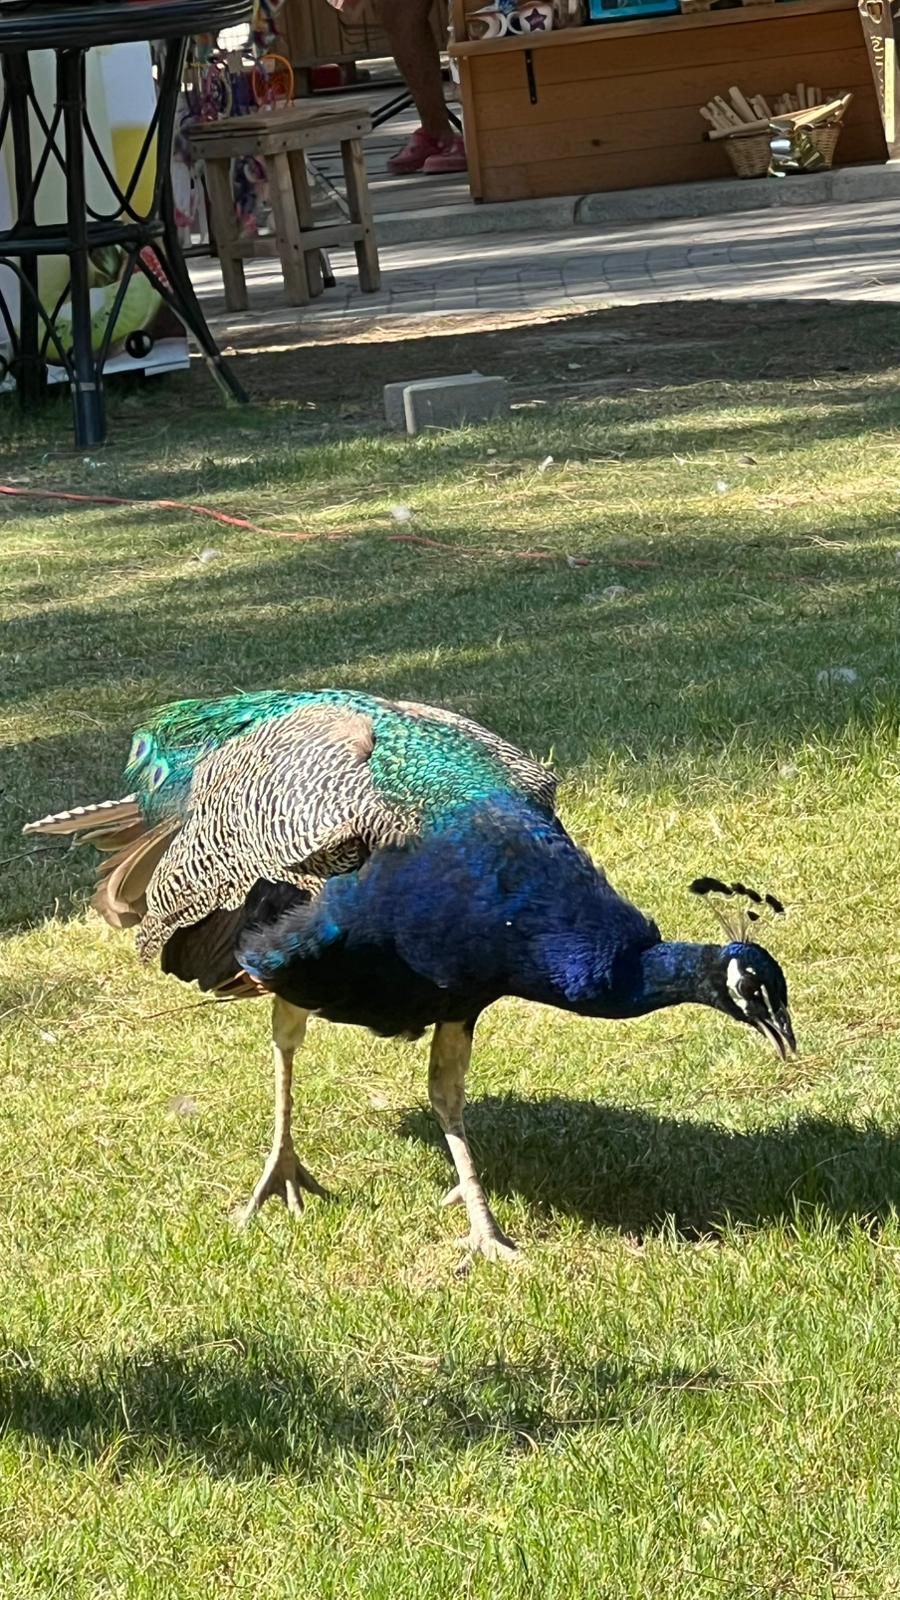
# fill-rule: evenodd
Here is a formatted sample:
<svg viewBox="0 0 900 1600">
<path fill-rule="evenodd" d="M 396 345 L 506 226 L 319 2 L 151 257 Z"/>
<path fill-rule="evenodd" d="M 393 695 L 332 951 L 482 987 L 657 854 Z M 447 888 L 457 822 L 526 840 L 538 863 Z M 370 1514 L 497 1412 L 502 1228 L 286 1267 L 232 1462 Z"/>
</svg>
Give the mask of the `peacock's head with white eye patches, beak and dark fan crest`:
<svg viewBox="0 0 900 1600">
<path fill-rule="evenodd" d="M 783 915 L 781 901 L 775 894 L 757 894 L 746 883 L 722 883 L 721 878 L 695 878 L 690 890 L 693 894 L 725 898 L 725 909 L 713 902 L 729 942 L 716 952 L 708 973 L 711 1003 L 737 1022 L 754 1027 L 781 1059 L 788 1051 L 796 1054 L 785 973 L 775 957 L 749 938 L 762 917 Z M 745 909 L 735 912 L 735 898 L 738 906 L 746 902 Z"/>
</svg>

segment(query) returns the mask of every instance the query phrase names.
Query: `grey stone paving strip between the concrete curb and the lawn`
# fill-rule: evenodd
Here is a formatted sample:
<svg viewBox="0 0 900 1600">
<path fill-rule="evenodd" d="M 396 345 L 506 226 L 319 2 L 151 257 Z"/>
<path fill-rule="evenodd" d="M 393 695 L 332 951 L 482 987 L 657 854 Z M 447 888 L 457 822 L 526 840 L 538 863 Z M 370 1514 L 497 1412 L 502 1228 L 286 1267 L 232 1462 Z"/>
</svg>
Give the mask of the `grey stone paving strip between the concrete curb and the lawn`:
<svg viewBox="0 0 900 1600">
<path fill-rule="evenodd" d="M 360 294 L 351 256 L 309 309 L 283 304 L 274 262 L 248 266 L 251 309 L 226 314 L 215 261 L 192 264 L 219 338 L 323 320 L 575 310 L 658 299 L 900 299 L 900 198 L 625 227 L 474 235 L 381 251 Z"/>
</svg>

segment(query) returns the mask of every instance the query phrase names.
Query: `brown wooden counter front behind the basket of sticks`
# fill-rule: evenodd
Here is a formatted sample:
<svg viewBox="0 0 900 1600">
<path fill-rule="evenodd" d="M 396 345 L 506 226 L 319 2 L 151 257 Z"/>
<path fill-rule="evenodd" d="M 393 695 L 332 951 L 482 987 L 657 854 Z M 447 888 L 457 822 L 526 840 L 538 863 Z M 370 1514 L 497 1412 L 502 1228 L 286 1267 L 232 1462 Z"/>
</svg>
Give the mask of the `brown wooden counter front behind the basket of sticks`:
<svg viewBox="0 0 900 1600">
<path fill-rule="evenodd" d="M 838 163 L 887 158 L 857 0 L 783 0 L 476 43 L 461 38 L 463 5 L 472 8 L 456 0 L 461 42 L 450 53 L 476 200 L 733 176 L 722 146 L 703 139 L 698 110 L 732 83 L 769 101 L 798 82 L 852 90 Z"/>
</svg>

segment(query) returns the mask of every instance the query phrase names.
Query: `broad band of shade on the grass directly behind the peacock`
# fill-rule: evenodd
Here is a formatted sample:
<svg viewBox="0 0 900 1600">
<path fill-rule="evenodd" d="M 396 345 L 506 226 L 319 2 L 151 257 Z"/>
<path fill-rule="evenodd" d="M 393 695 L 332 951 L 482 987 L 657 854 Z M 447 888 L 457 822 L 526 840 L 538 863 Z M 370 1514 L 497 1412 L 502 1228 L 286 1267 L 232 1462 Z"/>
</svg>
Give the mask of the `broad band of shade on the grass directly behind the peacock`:
<svg viewBox="0 0 900 1600">
<path fill-rule="evenodd" d="M 612 525 L 588 546 L 589 565 L 572 568 L 436 560 L 373 531 L 348 554 L 272 541 L 227 570 L 186 563 L 168 586 L 149 576 L 128 610 L 86 594 L 54 613 L 51 637 L 35 606 L 14 624 L 19 664 L 0 704 L 75 682 L 83 718 L 5 752 L 0 928 L 40 922 L 58 896 L 64 910 L 82 904 L 93 854 L 62 859 L 21 826 L 122 794 L 131 730 L 186 693 L 336 683 L 453 706 L 538 755 L 552 744 L 560 773 L 623 763 L 636 795 L 658 782 L 660 762 L 733 744 L 777 766 L 847 725 L 863 738 L 897 715 L 895 619 L 871 547 L 894 533 L 887 512 L 863 530 L 831 517 L 828 549 L 804 538 L 767 547 L 740 518 L 721 546 L 687 520 L 650 544 Z M 496 539 L 514 547 L 520 534 Z M 609 584 L 620 586 L 612 602 Z M 858 682 L 825 691 L 817 674 L 833 662 Z"/>
</svg>

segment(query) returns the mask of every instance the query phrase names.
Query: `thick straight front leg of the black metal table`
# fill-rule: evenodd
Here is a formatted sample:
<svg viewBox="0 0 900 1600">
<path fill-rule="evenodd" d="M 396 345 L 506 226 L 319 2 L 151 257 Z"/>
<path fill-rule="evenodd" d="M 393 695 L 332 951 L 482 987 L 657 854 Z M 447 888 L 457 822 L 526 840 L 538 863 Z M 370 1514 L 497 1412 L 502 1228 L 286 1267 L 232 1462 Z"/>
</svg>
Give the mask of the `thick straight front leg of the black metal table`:
<svg viewBox="0 0 900 1600">
<path fill-rule="evenodd" d="M 56 99 L 66 130 L 66 226 L 72 307 L 72 406 L 78 448 L 102 445 L 102 374 L 91 338 L 90 242 L 85 190 L 85 51 L 56 53 Z"/>
</svg>

